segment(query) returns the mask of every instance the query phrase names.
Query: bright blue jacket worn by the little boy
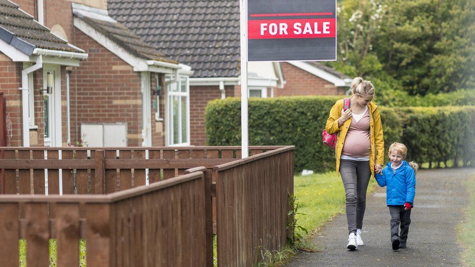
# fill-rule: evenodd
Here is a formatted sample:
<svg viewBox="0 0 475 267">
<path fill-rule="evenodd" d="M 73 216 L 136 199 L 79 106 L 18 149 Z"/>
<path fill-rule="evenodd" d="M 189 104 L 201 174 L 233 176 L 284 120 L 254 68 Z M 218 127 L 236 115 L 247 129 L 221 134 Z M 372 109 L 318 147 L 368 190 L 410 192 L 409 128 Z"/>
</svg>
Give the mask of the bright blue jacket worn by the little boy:
<svg viewBox="0 0 475 267">
<path fill-rule="evenodd" d="M 379 186 L 386 186 L 386 205 L 402 206 L 405 202 L 414 206 L 416 195 L 416 174 L 405 160 L 396 172 L 391 169 L 391 162 L 386 164 L 383 174 L 375 174 Z"/>
</svg>

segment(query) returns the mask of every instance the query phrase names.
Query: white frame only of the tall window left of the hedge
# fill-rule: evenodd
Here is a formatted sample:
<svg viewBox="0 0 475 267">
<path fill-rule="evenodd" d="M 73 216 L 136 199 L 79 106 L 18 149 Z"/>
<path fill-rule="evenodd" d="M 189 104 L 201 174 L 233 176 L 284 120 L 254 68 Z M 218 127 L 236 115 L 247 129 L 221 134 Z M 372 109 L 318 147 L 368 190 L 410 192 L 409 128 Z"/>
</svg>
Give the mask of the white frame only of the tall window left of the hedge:
<svg viewBox="0 0 475 267">
<path fill-rule="evenodd" d="M 181 85 L 182 85 L 182 79 L 185 80 L 186 82 L 186 92 L 182 92 L 181 91 Z M 171 88 L 174 88 L 176 87 L 177 90 L 176 91 L 173 91 L 171 90 Z M 165 141 L 166 141 L 166 145 L 167 146 L 188 146 L 190 145 L 190 80 L 189 80 L 189 76 L 182 76 L 180 75 L 179 76 L 179 79 L 178 81 L 174 81 L 174 76 L 173 75 L 166 75 L 165 76 L 165 93 L 166 93 L 166 110 L 165 110 L 165 128 L 166 128 L 166 134 L 165 134 Z M 186 142 L 181 142 L 181 143 L 173 143 L 173 114 L 171 114 L 170 112 L 170 105 L 173 101 L 173 97 L 174 96 L 184 96 L 186 97 L 186 128 L 187 128 L 187 131 L 186 131 Z M 182 101 L 180 99 L 180 101 L 178 102 L 179 103 L 179 108 L 178 108 L 178 112 L 179 112 L 179 117 L 180 119 L 178 120 L 179 122 L 179 133 L 178 133 L 178 139 L 179 140 L 183 140 L 183 136 L 182 136 L 182 108 L 181 108 L 181 105 L 182 105 Z"/>
</svg>

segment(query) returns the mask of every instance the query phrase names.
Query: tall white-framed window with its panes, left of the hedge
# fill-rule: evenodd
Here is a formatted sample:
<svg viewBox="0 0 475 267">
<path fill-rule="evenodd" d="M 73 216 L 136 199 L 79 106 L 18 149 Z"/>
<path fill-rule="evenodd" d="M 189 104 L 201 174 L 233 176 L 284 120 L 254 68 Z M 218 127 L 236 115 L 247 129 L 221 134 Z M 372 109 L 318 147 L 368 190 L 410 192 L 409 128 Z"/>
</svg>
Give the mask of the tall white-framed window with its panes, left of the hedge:
<svg viewBox="0 0 475 267">
<path fill-rule="evenodd" d="M 178 82 L 166 76 L 167 111 L 166 125 L 168 145 L 190 144 L 190 93 L 188 77 L 181 76 Z"/>
</svg>

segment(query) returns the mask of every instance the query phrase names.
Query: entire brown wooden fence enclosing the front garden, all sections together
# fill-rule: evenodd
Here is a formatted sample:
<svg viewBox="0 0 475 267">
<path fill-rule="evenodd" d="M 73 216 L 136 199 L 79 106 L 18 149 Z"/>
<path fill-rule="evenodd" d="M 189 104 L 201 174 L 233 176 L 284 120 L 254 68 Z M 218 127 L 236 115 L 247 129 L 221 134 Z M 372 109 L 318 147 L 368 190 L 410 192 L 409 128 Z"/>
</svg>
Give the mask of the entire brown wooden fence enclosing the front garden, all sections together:
<svg viewBox="0 0 475 267">
<path fill-rule="evenodd" d="M 293 149 L 0 147 L 15 194 L 0 196 L 0 258 L 18 266 L 25 238 L 28 266 L 47 266 L 55 238 L 58 266 L 77 266 L 85 238 L 88 266 L 212 266 L 217 213 L 219 266 L 249 266 L 285 244 Z"/>
</svg>

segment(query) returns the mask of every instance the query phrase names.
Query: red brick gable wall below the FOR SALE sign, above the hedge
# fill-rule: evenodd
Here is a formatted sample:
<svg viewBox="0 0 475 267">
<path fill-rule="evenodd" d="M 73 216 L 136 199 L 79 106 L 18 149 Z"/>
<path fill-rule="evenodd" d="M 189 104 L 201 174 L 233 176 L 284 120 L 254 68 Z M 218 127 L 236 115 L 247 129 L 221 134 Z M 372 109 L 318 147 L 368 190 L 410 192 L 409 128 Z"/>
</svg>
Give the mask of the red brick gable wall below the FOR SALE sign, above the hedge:
<svg viewBox="0 0 475 267">
<path fill-rule="evenodd" d="M 274 89 L 274 97 L 292 95 L 339 95 L 346 88 L 337 88 L 334 84 L 287 62 L 282 62 L 282 72 L 286 84 L 284 89 Z"/>
</svg>

